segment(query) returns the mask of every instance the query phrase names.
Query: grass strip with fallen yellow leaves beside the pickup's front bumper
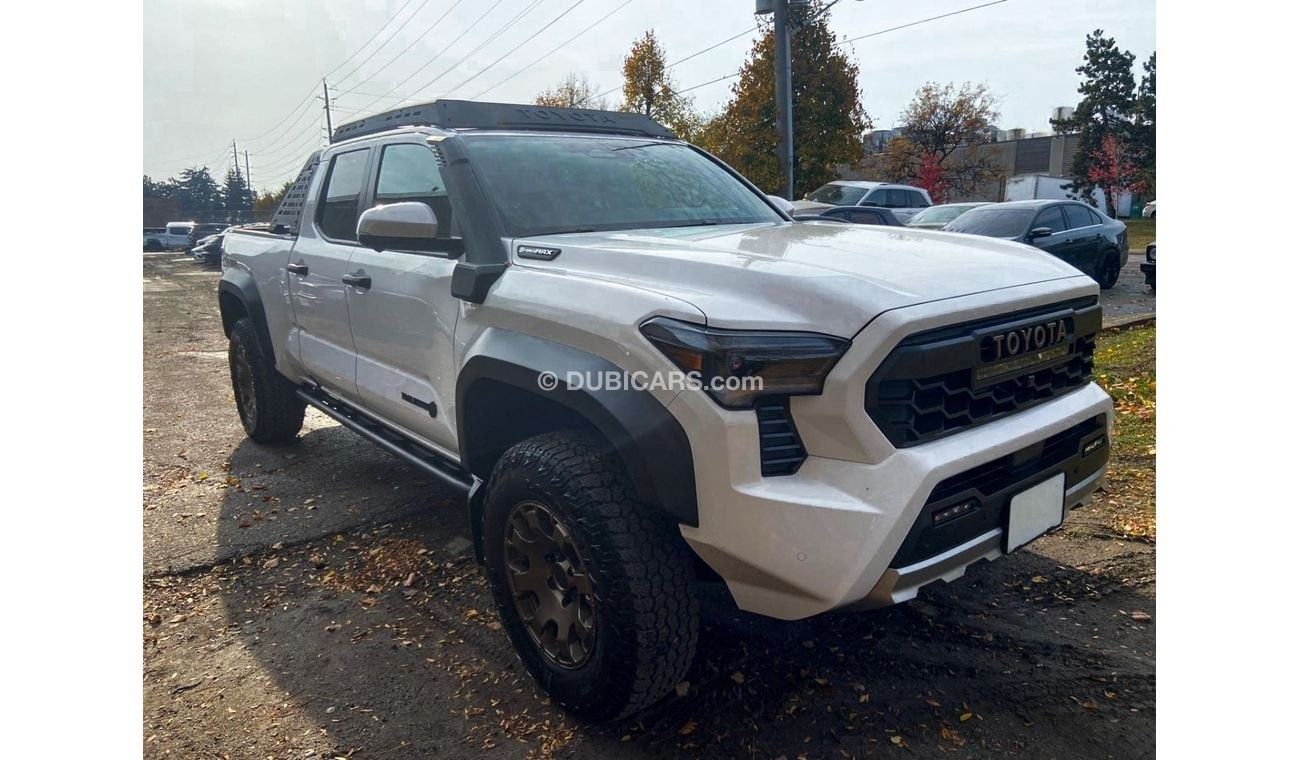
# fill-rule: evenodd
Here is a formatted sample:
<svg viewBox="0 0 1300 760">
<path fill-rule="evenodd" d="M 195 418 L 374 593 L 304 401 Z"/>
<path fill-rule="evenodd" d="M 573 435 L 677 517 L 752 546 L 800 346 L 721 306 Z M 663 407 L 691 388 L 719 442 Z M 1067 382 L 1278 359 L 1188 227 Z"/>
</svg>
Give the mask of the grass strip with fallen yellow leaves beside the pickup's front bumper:
<svg viewBox="0 0 1300 760">
<path fill-rule="evenodd" d="M 1156 325 L 1104 333 L 1096 377 L 1115 400 L 1106 491 L 1098 496 L 1112 529 L 1156 540 Z"/>
</svg>

